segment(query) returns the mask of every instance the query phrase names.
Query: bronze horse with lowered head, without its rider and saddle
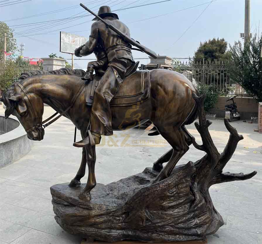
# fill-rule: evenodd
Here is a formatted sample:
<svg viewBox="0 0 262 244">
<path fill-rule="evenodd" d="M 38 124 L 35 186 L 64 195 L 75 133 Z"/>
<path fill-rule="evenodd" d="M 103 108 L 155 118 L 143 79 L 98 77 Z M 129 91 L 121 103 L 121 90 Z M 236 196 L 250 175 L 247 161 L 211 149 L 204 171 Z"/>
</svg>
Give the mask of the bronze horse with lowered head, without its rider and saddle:
<svg viewBox="0 0 262 244">
<path fill-rule="evenodd" d="M 174 71 L 155 69 L 147 71 L 150 75 L 150 92 L 148 99 L 137 106 L 140 120 L 150 120 L 158 132 L 172 146 L 153 166 L 160 171 L 162 163 L 168 161 L 153 183 L 167 178 L 179 159 L 189 150 L 192 136 L 184 125 L 191 124 L 197 117 L 197 106 L 193 93 L 198 91 L 184 76 Z M 136 74 L 136 73 L 135 73 Z M 132 83 L 135 84 L 137 76 L 130 76 L 129 92 L 132 94 Z M 42 115 L 44 103 L 55 111 L 69 118 L 76 128 L 85 137 L 90 120 L 91 106 L 86 106 L 84 82 L 81 77 L 85 75 L 82 70 L 63 68 L 56 71 L 29 71 L 23 73 L 16 83 L 4 91 L 0 100 L 6 105 L 5 117 L 11 114 L 16 116 L 31 140 L 42 140 L 44 128 Z M 125 86 L 125 81 L 121 86 Z M 82 87 L 82 88 L 81 88 Z M 113 100 L 112 100 L 113 101 Z M 130 106 L 112 106 L 112 127 L 130 128 L 136 126 L 132 116 L 127 118 L 126 111 Z M 80 185 L 80 179 L 85 175 L 88 164 L 88 182 L 80 199 L 90 200 L 90 191 L 95 187 L 95 145 L 83 148 L 81 165 L 72 179 L 70 186 Z"/>
</svg>

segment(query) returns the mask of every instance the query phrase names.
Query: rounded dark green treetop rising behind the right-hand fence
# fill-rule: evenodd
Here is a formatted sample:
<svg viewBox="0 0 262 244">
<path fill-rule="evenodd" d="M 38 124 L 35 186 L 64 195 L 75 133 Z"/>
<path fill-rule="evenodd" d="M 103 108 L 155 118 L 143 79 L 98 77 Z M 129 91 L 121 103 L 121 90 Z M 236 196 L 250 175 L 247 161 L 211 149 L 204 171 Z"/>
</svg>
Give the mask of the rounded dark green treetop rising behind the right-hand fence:
<svg viewBox="0 0 262 244">
<path fill-rule="evenodd" d="M 227 42 L 224 38 L 212 40 L 209 39 L 208 42 L 200 42 L 198 49 L 195 52 L 194 62 L 203 62 L 203 59 L 209 62 L 213 61 L 231 61 L 231 53 L 227 51 Z"/>
</svg>

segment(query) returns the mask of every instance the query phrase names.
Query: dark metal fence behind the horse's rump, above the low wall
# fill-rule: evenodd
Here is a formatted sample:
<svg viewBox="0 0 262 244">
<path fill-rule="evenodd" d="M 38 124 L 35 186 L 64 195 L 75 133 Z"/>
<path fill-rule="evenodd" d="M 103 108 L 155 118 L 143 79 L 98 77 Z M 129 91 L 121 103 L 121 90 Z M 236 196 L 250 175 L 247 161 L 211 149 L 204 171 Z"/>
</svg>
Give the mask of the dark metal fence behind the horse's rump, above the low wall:
<svg viewBox="0 0 262 244">
<path fill-rule="evenodd" d="M 246 96 L 245 90 L 232 79 L 234 65 L 223 62 L 174 62 L 175 71 L 185 75 L 194 85 L 212 85 L 222 96 Z"/>
</svg>

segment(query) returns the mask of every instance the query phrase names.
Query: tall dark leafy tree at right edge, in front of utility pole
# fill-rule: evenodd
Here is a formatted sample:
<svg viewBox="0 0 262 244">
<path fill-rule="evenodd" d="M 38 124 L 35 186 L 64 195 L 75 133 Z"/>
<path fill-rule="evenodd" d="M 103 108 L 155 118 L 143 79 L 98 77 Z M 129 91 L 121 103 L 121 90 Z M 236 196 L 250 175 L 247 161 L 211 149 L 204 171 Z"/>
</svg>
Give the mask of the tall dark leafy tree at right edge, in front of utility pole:
<svg viewBox="0 0 262 244">
<path fill-rule="evenodd" d="M 255 33 L 244 45 L 241 42 L 230 45 L 235 65 L 232 70 L 233 79 L 259 101 L 262 101 L 261 48 L 262 33 Z"/>
</svg>

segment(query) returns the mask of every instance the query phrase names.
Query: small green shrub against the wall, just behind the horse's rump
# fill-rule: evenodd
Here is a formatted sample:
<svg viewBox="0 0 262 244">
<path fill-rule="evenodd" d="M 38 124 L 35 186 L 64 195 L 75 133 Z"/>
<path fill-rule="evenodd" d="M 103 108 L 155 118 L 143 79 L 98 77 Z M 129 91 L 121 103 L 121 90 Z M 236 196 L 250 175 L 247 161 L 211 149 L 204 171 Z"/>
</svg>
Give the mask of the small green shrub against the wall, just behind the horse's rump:
<svg viewBox="0 0 262 244">
<path fill-rule="evenodd" d="M 204 93 L 206 94 L 206 99 L 204 101 L 205 111 L 207 112 L 213 109 L 216 102 L 218 102 L 218 96 L 219 96 L 218 90 L 214 88 L 213 85 L 198 85 L 197 89 L 201 95 Z"/>
</svg>

